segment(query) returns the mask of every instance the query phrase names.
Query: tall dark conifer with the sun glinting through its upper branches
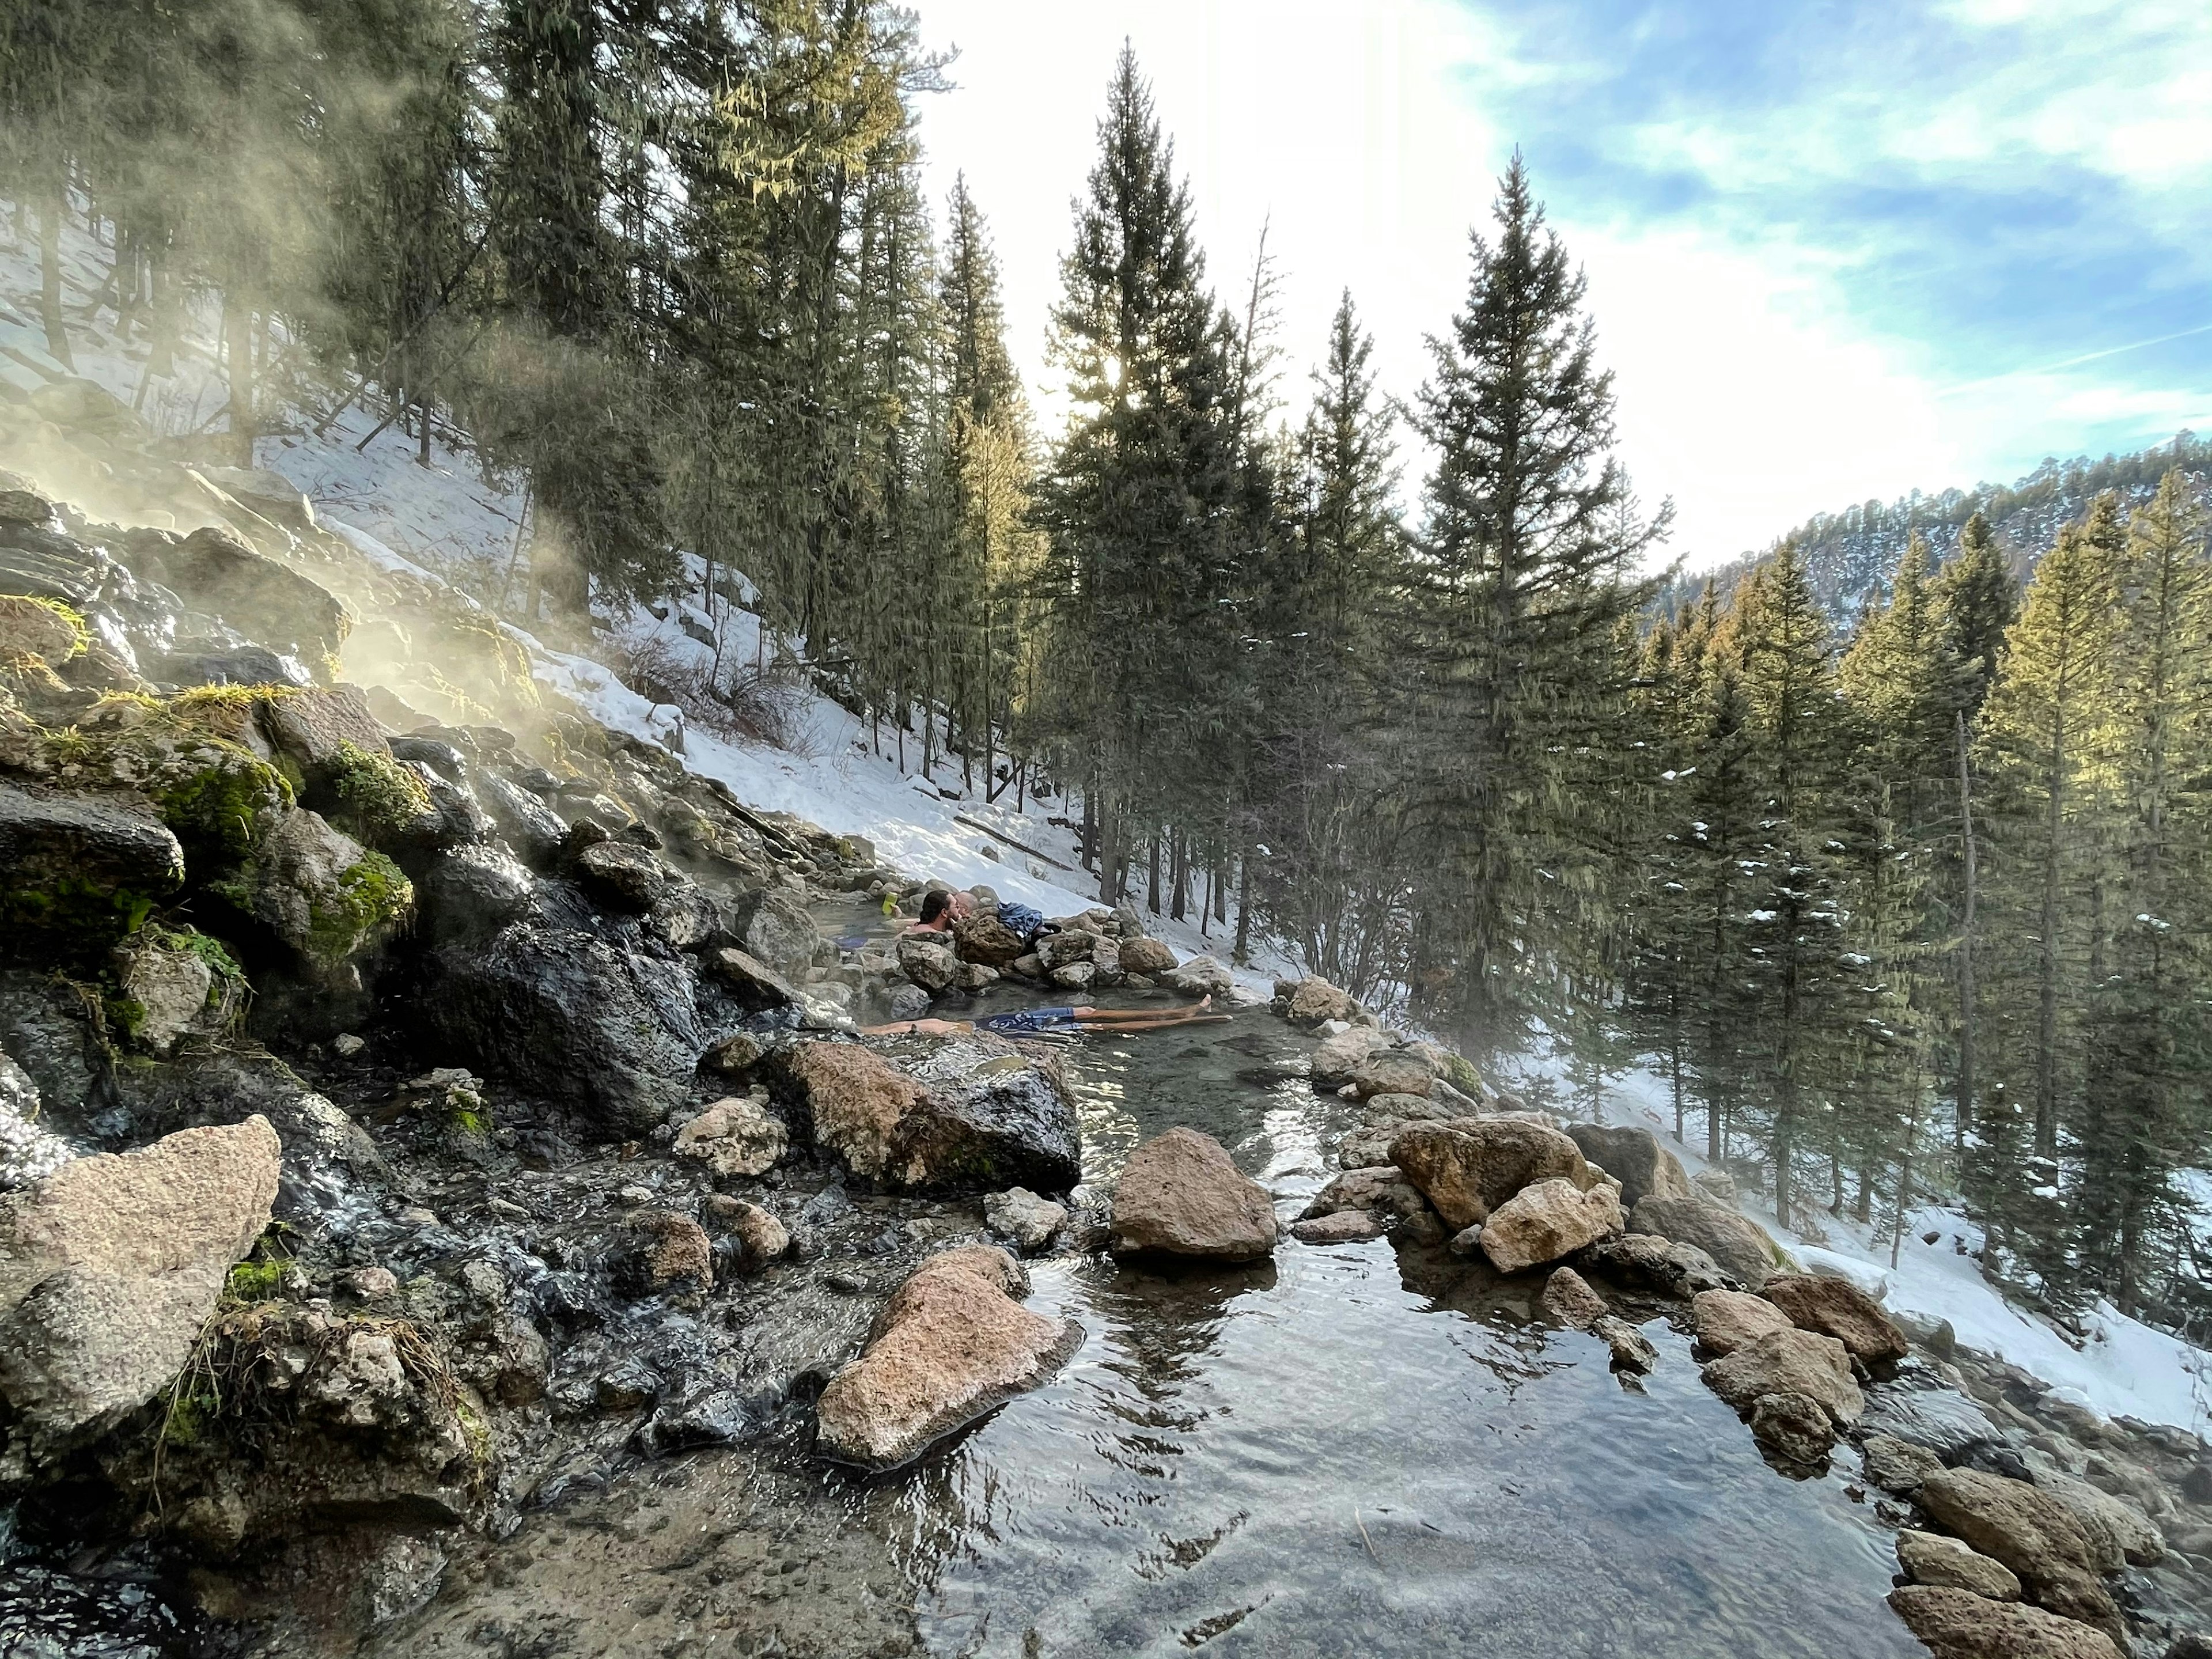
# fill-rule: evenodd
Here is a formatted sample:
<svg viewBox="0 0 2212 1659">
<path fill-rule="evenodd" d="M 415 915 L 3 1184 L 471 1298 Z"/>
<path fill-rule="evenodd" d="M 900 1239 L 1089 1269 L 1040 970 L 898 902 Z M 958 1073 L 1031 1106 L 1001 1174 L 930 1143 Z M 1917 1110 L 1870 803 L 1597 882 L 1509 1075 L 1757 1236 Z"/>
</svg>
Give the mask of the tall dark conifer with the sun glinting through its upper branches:
<svg viewBox="0 0 2212 1659">
<path fill-rule="evenodd" d="M 1099 896 L 1119 900 L 1150 825 L 1219 765 L 1248 580 L 1230 535 L 1225 330 L 1190 192 L 1126 46 L 1062 281 L 1053 358 L 1075 414 L 1037 491 L 1051 533 L 1046 723 L 1102 830 Z"/>
</svg>

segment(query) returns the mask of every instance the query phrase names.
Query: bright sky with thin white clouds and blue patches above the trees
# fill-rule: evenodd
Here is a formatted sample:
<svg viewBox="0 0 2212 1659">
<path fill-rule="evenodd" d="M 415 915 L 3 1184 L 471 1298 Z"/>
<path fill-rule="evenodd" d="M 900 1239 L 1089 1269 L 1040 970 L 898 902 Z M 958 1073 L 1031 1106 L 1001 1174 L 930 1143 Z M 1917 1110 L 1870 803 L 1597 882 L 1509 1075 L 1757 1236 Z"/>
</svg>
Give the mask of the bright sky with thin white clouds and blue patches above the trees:
<svg viewBox="0 0 2212 1659">
<path fill-rule="evenodd" d="M 1692 564 L 1814 511 L 2212 425 L 2205 0 L 916 0 L 931 188 L 1044 363 L 1128 38 L 1208 276 L 1283 272 L 1283 394 L 1349 288 L 1387 389 L 1517 144 L 1590 281 L 1637 491 Z"/>
</svg>

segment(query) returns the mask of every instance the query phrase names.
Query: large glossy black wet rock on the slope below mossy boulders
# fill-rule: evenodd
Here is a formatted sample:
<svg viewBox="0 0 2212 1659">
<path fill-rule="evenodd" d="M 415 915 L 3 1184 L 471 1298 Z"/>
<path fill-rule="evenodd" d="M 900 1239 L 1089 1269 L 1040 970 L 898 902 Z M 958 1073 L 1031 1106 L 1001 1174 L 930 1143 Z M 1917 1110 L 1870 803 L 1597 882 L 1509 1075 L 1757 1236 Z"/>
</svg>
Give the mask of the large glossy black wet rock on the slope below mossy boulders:
<svg viewBox="0 0 2212 1659">
<path fill-rule="evenodd" d="M 438 951 L 422 1009 L 471 1064 L 615 1135 L 681 1104 L 706 1046 L 686 958 L 533 922 Z"/>
</svg>

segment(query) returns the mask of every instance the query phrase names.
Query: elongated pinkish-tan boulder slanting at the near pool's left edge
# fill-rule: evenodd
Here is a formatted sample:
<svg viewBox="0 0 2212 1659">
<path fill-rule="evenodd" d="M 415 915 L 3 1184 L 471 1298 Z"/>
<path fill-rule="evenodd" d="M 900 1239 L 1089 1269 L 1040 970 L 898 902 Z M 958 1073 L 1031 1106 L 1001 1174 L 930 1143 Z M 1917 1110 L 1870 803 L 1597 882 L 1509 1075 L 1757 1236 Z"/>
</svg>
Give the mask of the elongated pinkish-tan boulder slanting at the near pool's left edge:
<svg viewBox="0 0 2212 1659">
<path fill-rule="evenodd" d="M 860 1358 L 823 1389 L 816 1447 L 896 1469 L 1037 1387 L 1082 1343 L 1082 1327 L 1029 1312 L 1015 1301 L 1026 1292 L 1022 1267 L 991 1245 L 925 1261 L 885 1303 Z"/>
</svg>

